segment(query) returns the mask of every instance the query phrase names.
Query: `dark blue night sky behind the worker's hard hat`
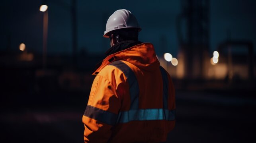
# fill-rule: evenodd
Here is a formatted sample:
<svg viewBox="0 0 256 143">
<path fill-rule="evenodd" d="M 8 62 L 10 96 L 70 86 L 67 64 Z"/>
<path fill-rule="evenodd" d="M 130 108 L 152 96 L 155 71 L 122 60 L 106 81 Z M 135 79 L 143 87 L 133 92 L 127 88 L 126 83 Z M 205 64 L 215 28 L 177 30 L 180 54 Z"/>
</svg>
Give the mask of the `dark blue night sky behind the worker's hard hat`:
<svg viewBox="0 0 256 143">
<path fill-rule="evenodd" d="M 41 0 L 1 1 L 0 51 L 18 51 L 25 43 L 29 52 L 42 52 L 43 12 L 39 11 Z M 49 54 L 72 53 L 72 25 L 70 0 L 48 0 Z M 139 40 L 154 44 L 157 54 L 170 52 L 177 56 L 178 39 L 176 16 L 181 12 L 178 0 L 77 0 L 78 53 L 103 54 L 110 46 L 109 39 L 102 37 L 108 17 L 118 9 L 130 10 L 138 19 L 142 31 Z M 210 0 L 210 52 L 227 39 L 245 39 L 256 46 L 255 0 Z M 161 39 L 166 47 L 160 48 Z M 254 48 L 255 49 L 255 48 Z M 256 51 L 254 50 L 254 53 Z"/>
</svg>

